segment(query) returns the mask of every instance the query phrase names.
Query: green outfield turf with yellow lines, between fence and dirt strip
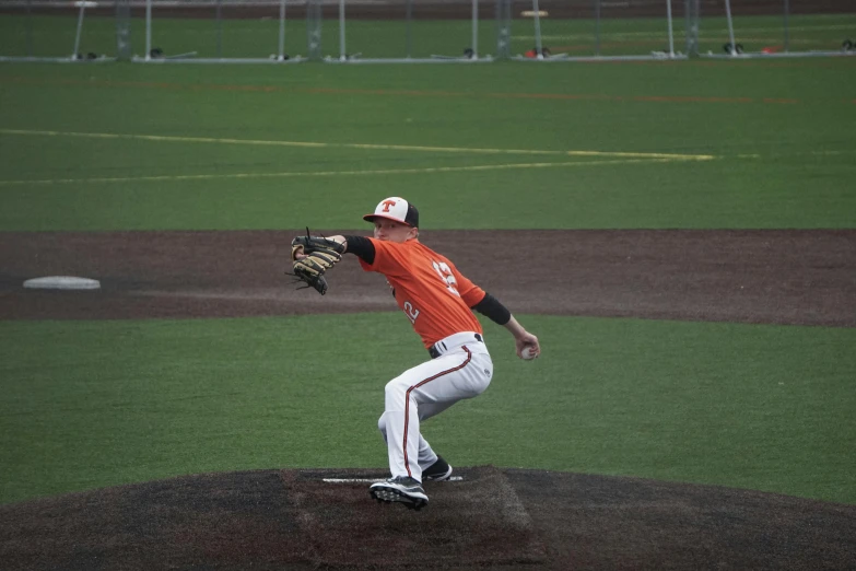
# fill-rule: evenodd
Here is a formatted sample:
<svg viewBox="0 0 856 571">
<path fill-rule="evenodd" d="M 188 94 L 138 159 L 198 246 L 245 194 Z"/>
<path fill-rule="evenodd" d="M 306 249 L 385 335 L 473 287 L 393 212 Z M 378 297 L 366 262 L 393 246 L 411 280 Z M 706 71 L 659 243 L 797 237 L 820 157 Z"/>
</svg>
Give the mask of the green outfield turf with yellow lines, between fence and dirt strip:
<svg viewBox="0 0 856 571">
<path fill-rule="evenodd" d="M 855 63 L 5 65 L 0 229 L 852 228 Z"/>
</svg>

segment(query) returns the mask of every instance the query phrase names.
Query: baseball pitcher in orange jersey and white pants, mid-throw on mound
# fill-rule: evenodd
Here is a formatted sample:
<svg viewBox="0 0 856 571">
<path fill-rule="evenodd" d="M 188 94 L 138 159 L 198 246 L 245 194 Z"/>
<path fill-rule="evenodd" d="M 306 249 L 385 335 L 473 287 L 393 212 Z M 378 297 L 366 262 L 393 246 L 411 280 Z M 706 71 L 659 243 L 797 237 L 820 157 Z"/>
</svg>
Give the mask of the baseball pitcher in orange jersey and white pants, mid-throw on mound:
<svg viewBox="0 0 856 571">
<path fill-rule="evenodd" d="M 354 254 L 365 271 L 386 276 L 398 306 L 422 338 L 431 359 L 386 385 L 377 426 L 387 443 L 391 477 L 370 488 L 378 501 L 419 510 L 429 501 L 422 482 L 452 476 L 452 466 L 422 436 L 420 422 L 480 395 L 493 375 L 482 327 L 471 310 L 508 329 L 518 357 L 538 357 L 540 346 L 496 298 L 419 241 L 419 212 L 413 205 L 387 198 L 363 219 L 374 223 L 374 237 L 294 238 L 293 269 L 325 293 L 324 272 L 342 254 Z"/>
</svg>

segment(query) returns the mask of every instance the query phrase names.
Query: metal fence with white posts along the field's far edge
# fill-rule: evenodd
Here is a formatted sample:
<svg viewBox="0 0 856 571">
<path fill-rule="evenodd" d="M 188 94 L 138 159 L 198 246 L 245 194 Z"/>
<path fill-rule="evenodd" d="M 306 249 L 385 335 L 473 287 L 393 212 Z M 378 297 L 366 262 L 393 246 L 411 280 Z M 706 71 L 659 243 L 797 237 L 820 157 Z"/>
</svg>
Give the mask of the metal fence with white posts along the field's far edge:
<svg viewBox="0 0 856 571">
<path fill-rule="evenodd" d="M 854 43 L 853 0 L 0 0 L 0 60 L 549 62 Z"/>
</svg>

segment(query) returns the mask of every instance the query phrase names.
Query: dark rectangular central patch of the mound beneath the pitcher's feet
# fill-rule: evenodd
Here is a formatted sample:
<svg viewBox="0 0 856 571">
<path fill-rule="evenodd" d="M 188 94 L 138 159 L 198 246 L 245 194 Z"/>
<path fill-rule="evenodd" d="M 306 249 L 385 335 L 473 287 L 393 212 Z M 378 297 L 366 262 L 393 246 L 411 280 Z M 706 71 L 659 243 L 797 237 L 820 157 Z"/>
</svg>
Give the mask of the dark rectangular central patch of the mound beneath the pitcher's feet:
<svg viewBox="0 0 856 571">
<path fill-rule="evenodd" d="M 465 481 L 426 486 L 438 509 L 419 513 L 377 504 L 368 497 L 367 482 L 324 482 L 336 476 L 331 470 L 285 471 L 283 480 L 301 514 L 306 555 L 324 567 L 546 563 L 531 517 L 507 478 L 495 468 L 468 471 Z"/>
</svg>

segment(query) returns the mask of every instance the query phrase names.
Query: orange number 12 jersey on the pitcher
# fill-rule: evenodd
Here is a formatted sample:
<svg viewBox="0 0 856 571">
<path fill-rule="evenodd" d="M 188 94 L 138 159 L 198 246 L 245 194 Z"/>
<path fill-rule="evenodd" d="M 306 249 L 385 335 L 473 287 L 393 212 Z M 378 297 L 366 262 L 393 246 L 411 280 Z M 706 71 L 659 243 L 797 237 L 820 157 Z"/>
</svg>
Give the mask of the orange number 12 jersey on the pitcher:
<svg viewBox="0 0 856 571">
<path fill-rule="evenodd" d="M 456 333 L 482 333 L 470 307 L 484 299 L 484 290 L 460 273 L 452 261 L 419 240 L 403 244 L 368 240 L 375 246 L 375 261 L 370 265 L 360 258 L 360 265 L 365 271 L 386 276 L 398 306 L 425 348 Z"/>
</svg>

